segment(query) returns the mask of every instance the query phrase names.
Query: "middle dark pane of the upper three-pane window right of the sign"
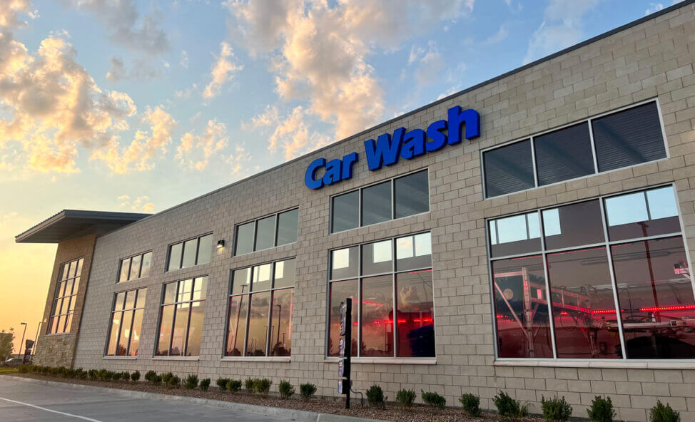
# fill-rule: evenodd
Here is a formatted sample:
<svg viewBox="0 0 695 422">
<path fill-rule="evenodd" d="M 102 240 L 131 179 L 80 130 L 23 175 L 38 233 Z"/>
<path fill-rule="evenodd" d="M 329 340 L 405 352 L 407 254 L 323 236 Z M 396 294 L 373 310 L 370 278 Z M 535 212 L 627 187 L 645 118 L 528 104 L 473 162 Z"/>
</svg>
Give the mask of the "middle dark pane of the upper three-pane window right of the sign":
<svg viewBox="0 0 695 422">
<path fill-rule="evenodd" d="M 537 136 L 533 144 L 539 186 L 594 173 L 588 123 Z"/>
</svg>

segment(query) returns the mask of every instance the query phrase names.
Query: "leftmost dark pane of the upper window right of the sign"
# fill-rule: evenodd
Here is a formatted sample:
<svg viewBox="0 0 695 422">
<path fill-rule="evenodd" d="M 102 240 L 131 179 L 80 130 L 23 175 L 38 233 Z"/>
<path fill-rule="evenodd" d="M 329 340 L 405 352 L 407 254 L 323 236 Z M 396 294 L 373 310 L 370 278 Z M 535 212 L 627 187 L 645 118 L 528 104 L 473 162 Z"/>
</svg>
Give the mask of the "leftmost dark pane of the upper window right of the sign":
<svg viewBox="0 0 695 422">
<path fill-rule="evenodd" d="M 483 153 L 482 160 L 487 197 L 534 187 L 531 140 L 487 151 Z"/>
</svg>

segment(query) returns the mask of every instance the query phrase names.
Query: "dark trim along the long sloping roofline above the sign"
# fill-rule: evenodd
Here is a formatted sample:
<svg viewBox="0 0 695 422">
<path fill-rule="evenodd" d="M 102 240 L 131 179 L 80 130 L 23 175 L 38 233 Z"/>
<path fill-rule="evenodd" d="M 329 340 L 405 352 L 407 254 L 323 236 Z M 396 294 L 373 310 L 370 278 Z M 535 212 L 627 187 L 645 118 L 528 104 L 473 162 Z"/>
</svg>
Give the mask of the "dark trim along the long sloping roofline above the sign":
<svg viewBox="0 0 695 422">
<path fill-rule="evenodd" d="M 306 153 L 306 154 L 304 154 L 304 155 L 301 155 L 300 157 L 294 158 L 293 160 L 286 161 L 285 163 L 282 163 L 282 164 L 279 164 L 279 165 L 275 165 L 274 167 L 271 167 L 271 168 L 269 168 L 268 170 L 263 170 L 263 171 L 260 172 L 260 173 L 256 173 L 255 175 L 250 175 L 250 176 L 248 176 L 248 177 L 243 178 L 242 180 L 237 180 L 236 182 L 230 183 L 229 185 L 224 185 L 223 187 L 219 187 L 218 189 L 212 190 L 212 191 L 210 191 L 210 192 L 208 192 L 208 193 L 205 193 L 205 194 L 203 194 L 203 195 L 200 195 L 200 196 L 198 196 L 198 197 L 194 197 L 194 198 L 191 199 L 191 200 L 187 200 L 187 201 L 185 201 L 185 202 L 181 202 L 180 204 L 174 205 L 173 207 L 168 207 L 166 210 L 162 210 L 162 211 L 160 211 L 160 212 L 156 212 L 156 213 L 153 214 L 153 215 L 150 215 L 150 217 L 155 217 L 155 216 L 160 215 L 160 214 L 163 214 L 163 213 L 165 213 L 165 212 L 168 212 L 168 211 L 171 211 L 171 210 L 175 210 L 176 208 L 178 208 L 178 207 L 183 207 L 183 205 L 186 205 L 186 204 L 188 204 L 188 203 L 190 203 L 190 202 L 194 202 L 194 201 L 200 200 L 200 199 L 202 199 L 203 197 L 207 197 L 207 196 L 210 196 L 210 195 L 214 195 L 215 193 L 220 192 L 220 191 L 225 190 L 225 189 L 228 189 L 229 187 L 233 187 L 233 186 L 235 186 L 235 185 L 239 185 L 239 184 L 242 183 L 242 182 L 247 182 L 248 180 L 253 179 L 253 178 L 255 178 L 255 177 L 260 177 L 260 176 L 265 175 L 265 174 L 267 174 L 267 173 L 270 173 L 270 172 L 273 172 L 273 171 L 275 171 L 275 170 L 278 170 L 279 168 L 282 168 L 282 167 L 284 167 L 285 165 L 290 165 L 290 164 L 293 164 L 293 163 L 298 162 L 299 160 L 304 160 L 305 158 L 309 157 L 310 155 L 315 155 L 315 154 L 318 154 L 318 153 L 320 153 L 320 152 L 322 152 L 322 151 L 324 151 L 324 150 L 328 150 L 329 148 L 333 148 L 333 147 L 335 147 L 335 145 L 338 145 L 339 143 L 348 142 L 349 140 L 352 140 L 352 139 L 355 139 L 355 138 L 360 138 L 360 136 L 365 135 L 366 133 L 369 133 L 369 132 L 371 132 L 372 130 L 377 130 L 377 129 L 379 129 L 379 128 L 385 127 L 385 126 L 387 126 L 387 125 L 390 125 L 391 123 L 396 122 L 397 120 L 402 120 L 403 118 L 406 118 L 406 117 L 409 116 L 409 115 L 413 115 L 413 114 L 415 114 L 415 113 L 419 113 L 419 112 L 422 111 L 422 110 L 425 110 L 425 109 L 427 109 L 427 108 L 431 108 L 431 107 L 433 107 L 433 106 L 435 106 L 435 105 L 437 105 L 437 104 L 444 103 L 445 101 L 449 101 L 450 99 L 455 98 L 455 97 L 457 97 L 457 96 L 462 96 L 462 95 L 464 95 L 464 94 L 466 94 L 466 93 L 470 93 L 471 91 L 475 91 L 475 90 L 477 90 L 478 88 L 481 88 L 481 87 L 486 86 L 486 85 L 489 85 L 489 84 L 491 84 L 491 83 L 500 81 L 500 80 L 502 80 L 502 79 L 504 79 L 504 78 L 507 78 L 507 77 L 509 77 L 509 76 L 512 76 L 512 75 L 514 75 L 514 74 L 516 74 L 516 73 L 525 71 L 525 70 L 527 70 L 528 68 L 532 68 L 532 67 L 534 67 L 534 66 L 538 66 L 539 64 L 544 63 L 544 62 L 546 62 L 546 61 L 551 61 L 553 58 L 557 58 L 557 57 L 562 56 L 562 55 L 564 55 L 564 54 L 570 53 L 570 52 L 572 52 L 572 51 L 574 51 L 574 50 L 577 50 L 577 49 L 579 49 L 579 48 L 582 48 L 582 47 L 584 47 L 584 46 L 587 46 L 587 45 L 589 45 L 589 44 L 591 44 L 591 43 L 595 43 L 596 41 L 600 41 L 600 40 L 602 40 L 603 38 L 608 38 L 609 36 L 612 36 L 612 35 L 614 35 L 614 34 L 618 34 L 619 32 L 625 31 L 626 29 L 630 29 L 630 28 L 632 28 L 633 26 L 637 26 L 637 25 L 639 25 L 639 24 L 644 24 L 644 22 L 646 22 L 646 21 L 651 21 L 651 19 L 655 19 L 655 18 L 657 18 L 657 17 L 659 17 L 659 16 L 662 16 L 662 15 L 664 15 L 664 14 L 670 13 L 671 11 L 674 11 L 674 10 L 676 10 L 676 9 L 681 9 L 681 8 L 684 7 L 684 6 L 687 6 L 687 5 L 693 4 L 693 3 L 695 3 L 695 0 L 684 0 L 684 1 L 681 1 L 680 3 L 676 3 L 676 4 L 672 5 L 672 6 L 669 6 L 669 7 L 666 7 L 666 8 L 664 8 L 664 9 L 661 9 L 660 11 L 657 11 L 657 12 L 655 12 L 655 13 L 653 13 L 653 14 L 650 14 L 650 15 L 644 16 L 644 17 L 642 17 L 642 18 L 640 18 L 640 19 L 637 19 L 636 21 L 631 21 L 631 22 L 629 22 L 629 23 L 627 23 L 627 24 L 624 24 L 624 25 L 622 25 L 622 26 L 618 26 L 618 27 L 615 28 L 615 29 L 612 29 L 612 30 L 610 30 L 610 31 L 604 32 L 603 34 L 599 34 L 599 35 L 597 35 L 597 36 L 594 36 L 593 38 L 589 38 L 589 39 L 587 39 L 586 41 L 582 41 L 581 43 L 574 44 L 574 46 L 569 46 L 569 47 L 567 47 L 567 48 L 564 48 L 564 50 L 560 50 L 560 51 L 558 51 L 557 53 L 552 53 L 552 54 L 549 55 L 549 56 L 545 56 L 545 57 L 543 57 L 543 58 L 539 58 L 537 61 L 532 61 L 531 63 L 527 63 L 527 64 L 525 64 L 524 66 L 520 66 L 520 67 L 518 67 L 518 68 L 514 68 L 514 69 L 512 69 L 511 71 L 508 71 L 507 73 L 502 73 L 502 75 L 495 76 L 494 78 L 488 79 L 487 81 L 483 81 L 483 82 L 481 82 L 481 83 L 477 83 L 476 85 L 470 86 L 469 88 L 465 88 L 464 90 L 458 91 L 457 93 L 452 93 L 450 96 L 446 96 L 445 98 L 440 98 L 439 100 L 433 101 L 432 103 L 428 103 L 428 104 L 426 104 L 426 105 L 422 105 L 422 107 L 415 108 L 415 110 L 411 110 L 411 111 L 408 111 L 407 113 L 403 113 L 403 114 L 401 114 L 401 115 L 398 115 L 398 116 L 395 117 L 395 118 L 392 118 L 392 119 L 390 119 L 390 120 L 386 120 L 385 122 L 379 123 L 379 124 L 377 124 L 377 125 L 375 125 L 375 126 L 372 126 L 371 128 L 367 128 L 367 129 L 365 129 L 365 130 L 362 130 L 362 131 L 359 132 L 359 133 L 355 133 L 355 135 L 350 135 L 350 136 L 348 136 L 348 138 L 343 138 L 343 139 L 341 139 L 341 140 L 337 140 L 337 141 L 335 141 L 335 142 L 333 142 L 333 143 L 330 143 L 330 144 L 326 145 L 326 146 L 323 147 L 323 148 L 319 148 L 318 150 L 313 150 L 313 151 L 311 151 L 310 153 Z M 147 219 L 150 218 L 150 217 L 143 218 L 143 220 L 147 220 Z M 124 228 L 124 227 L 121 227 L 121 228 Z M 120 230 L 120 229 L 118 229 L 118 230 Z M 114 230 L 114 231 L 116 231 L 116 230 Z"/>
</svg>

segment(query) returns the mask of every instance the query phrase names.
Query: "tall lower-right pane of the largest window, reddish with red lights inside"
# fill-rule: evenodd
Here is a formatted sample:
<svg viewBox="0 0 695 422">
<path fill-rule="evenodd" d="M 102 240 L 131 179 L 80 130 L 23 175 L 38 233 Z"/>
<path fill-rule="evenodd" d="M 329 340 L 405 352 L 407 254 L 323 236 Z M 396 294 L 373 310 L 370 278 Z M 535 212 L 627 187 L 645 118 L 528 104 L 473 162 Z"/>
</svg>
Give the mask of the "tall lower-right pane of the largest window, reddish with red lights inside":
<svg viewBox="0 0 695 422">
<path fill-rule="evenodd" d="M 611 247 L 629 359 L 695 358 L 695 299 L 681 237 Z"/>
</svg>

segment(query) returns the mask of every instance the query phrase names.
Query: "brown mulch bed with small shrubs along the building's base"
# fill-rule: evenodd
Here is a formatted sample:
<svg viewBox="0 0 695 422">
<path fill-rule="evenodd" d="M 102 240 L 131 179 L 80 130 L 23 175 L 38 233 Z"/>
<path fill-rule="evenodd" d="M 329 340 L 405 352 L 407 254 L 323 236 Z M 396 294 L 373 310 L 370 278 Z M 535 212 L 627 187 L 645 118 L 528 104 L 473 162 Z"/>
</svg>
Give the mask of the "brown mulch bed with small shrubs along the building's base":
<svg viewBox="0 0 695 422">
<path fill-rule="evenodd" d="M 258 406 L 271 406 L 280 408 L 291 408 L 301 411 L 311 411 L 318 413 L 333 413 L 345 416 L 355 416 L 357 418 L 380 419 L 382 421 L 391 422 L 465 422 L 465 421 L 503 421 L 496 414 L 483 413 L 480 418 L 470 418 L 462 408 L 444 408 L 437 409 L 430 406 L 414 404 L 410 408 L 405 408 L 397 403 L 386 403 L 385 408 L 361 407 L 360 396 L 352 395 L 350 398 L 351 408 L 345 409 L 345 401 L 336 398 L 320 398 L 315 397 L 310 401 L 303 401 L 295 393 L 293 398 L 285 400 L 278 396 L 273 396 L 271 393 L 268 397 L 259 396 L 257 394 L 249 394 L 244 392 L 232 393 L 229 391 L 220 391 L 216 386 L 210 386 L 208 391 L 201 391 L 200 388 L 188 390 L 186 388 L 169 388 L 166 386 L 156 386 L 147 381 L 91 381 L 86 379 L 66 379 L 62 377 L 43 376 L 37 374 L 8 374 L 8 376 L 21 376 L 31 379 L 44 379 L 48 381 L 58 381 L 71 384 L 82 384 L 86 386 L 98 386 L 107 388 L 118 388 L 121 390 L 146 391 L 148 393 L 169 394 L 172 396 L 186 396 L 209 398 L 211 400 L 233 401 L 235 403 L 248 403 Z M 519 421 L 524 422 L 542 422 L 542 418 L 529 417 L 520 418 Z"/>
</svg>

